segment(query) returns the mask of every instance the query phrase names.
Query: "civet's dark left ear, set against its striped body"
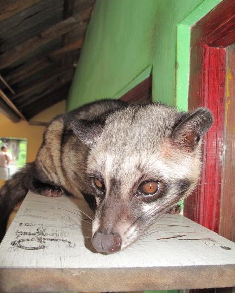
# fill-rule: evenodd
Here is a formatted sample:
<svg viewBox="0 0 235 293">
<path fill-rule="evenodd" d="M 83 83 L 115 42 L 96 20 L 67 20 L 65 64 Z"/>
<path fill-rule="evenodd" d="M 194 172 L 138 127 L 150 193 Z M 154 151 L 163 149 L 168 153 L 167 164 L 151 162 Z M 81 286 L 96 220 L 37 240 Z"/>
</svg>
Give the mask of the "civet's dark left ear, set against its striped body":
<svg viewBox="0 0 235 293">
<path fill-rule="evenodd" d="M 71 124 L 74 134 L 88 147 L 91 147 L 101 135 L 104 123 L 85 119 L 74 120 Z"/>
</svg>

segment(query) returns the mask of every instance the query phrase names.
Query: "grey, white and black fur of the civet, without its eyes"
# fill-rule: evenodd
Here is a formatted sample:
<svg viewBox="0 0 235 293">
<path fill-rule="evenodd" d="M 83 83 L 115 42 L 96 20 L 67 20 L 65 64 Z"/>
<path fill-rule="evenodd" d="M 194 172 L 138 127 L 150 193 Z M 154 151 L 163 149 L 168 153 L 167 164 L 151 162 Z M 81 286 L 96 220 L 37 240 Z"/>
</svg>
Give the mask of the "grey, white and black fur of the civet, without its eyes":
<svg viewBox="0 0 235 293">
<path fill-rule="evenodd" d="M 0 190 L 0 210 L 6 210 L 1 220 L 6 222 L 27 189 L 55 196 L 62 189 L 75 197 L 83 194 L 96 208 L 92 229 L 97 250 L 123 249 L 195 188 L 200 136 L 212 121 L 205 108 L 183 113 L 159 103 L 112 100 L 60 115 L 47 127 L 35 163 L 16 175 L 17 198 L 13 179 Z M 97 188 L 94 178 L 104 187 Z M 154 195 L 139 190 L 149 181 L 158 184 Z"/>
</svg>

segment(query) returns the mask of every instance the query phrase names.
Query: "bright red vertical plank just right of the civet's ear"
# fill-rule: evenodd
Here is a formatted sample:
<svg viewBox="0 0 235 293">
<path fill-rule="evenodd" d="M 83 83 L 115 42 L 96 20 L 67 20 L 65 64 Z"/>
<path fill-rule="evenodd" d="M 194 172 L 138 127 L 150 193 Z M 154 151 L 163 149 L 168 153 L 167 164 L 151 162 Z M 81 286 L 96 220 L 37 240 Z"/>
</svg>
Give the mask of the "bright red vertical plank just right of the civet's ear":
<svg viewBox="0 0 235 293">
<path fill-rule="evenodd" d="M 219 231 L 221 175 L 224 151 L 224 106 L 225 106 L 225 68 L 226 51 L 223 48 L 209 48 L 209 66 L 205 69 L 208 75 L 203 105 L 212 111 L 214 123 L 207 133 L 207 159 L 205 160 L 205 200 L 202 204 L 203 225 L 215 232 Z"/>
</svg>

